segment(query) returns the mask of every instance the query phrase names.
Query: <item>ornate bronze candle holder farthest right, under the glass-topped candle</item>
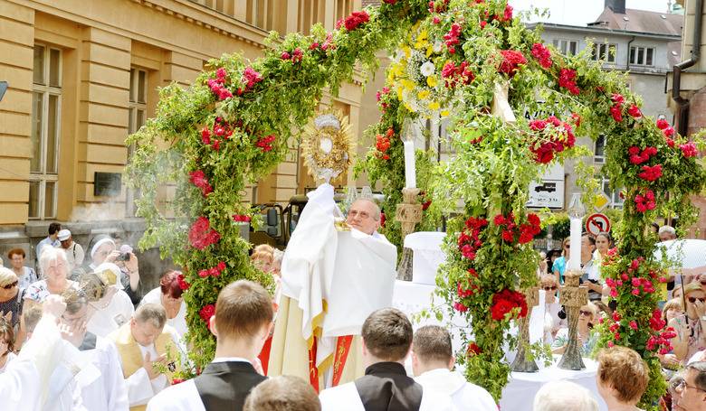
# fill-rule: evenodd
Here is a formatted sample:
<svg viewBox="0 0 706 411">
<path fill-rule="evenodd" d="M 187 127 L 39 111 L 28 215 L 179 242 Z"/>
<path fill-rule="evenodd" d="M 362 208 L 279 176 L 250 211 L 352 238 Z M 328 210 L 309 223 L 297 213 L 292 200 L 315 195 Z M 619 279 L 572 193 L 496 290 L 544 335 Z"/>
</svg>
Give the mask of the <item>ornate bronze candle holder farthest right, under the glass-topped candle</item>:
<svg viewBox="0 0 706 411">
<path fill-rule="evenodd" d="M 558 362 L 560 369 L 586 369 L 578 346 L 578 310 L 588 301 L 588 289 L 578 285 L 580 277 L 579 270 L 567 270 L 564 285 L 560 287 L 559 303 L 564 305 L 568 319 L 568 345 Z"/>
</svg>

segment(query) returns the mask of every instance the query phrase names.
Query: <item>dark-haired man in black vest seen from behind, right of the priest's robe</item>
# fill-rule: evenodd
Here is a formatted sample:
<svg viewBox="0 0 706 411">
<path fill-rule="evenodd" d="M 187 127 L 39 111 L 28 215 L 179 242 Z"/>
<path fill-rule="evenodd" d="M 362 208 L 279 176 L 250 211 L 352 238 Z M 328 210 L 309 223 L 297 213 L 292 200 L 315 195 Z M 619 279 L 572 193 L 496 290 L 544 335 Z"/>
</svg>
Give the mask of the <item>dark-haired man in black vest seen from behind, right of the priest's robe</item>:
<svg viewBox="0 0 706 411">
<path fill-rule="evenodd" d="M 320 394 L 323 411 L 453 410 L 448 396 L 424 388 L 405 372 L 412 344 L 412 323 L 405 313 L 383 308 L 363 323 L 365 376 Z"/>
</svg>

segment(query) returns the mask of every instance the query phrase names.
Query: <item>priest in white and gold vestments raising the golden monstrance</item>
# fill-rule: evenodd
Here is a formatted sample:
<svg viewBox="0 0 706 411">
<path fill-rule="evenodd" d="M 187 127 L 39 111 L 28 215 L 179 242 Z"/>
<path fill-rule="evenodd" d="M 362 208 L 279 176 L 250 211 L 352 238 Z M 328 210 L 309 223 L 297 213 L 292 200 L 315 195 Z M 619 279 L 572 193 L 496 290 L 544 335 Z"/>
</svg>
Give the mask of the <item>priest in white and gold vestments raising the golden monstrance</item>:
<svg viewBox="0 0 706 411">
<path fill-rule="evenodd" d="M 343 223 L 329 183 L 308 196 L 282 260 L 268 375 L 301 377 L 319 390 L 363 375 L 360 328 L 392 304 L 397 251 L 377 233 L 374 202 L 355 201 Z"/>
</svg>

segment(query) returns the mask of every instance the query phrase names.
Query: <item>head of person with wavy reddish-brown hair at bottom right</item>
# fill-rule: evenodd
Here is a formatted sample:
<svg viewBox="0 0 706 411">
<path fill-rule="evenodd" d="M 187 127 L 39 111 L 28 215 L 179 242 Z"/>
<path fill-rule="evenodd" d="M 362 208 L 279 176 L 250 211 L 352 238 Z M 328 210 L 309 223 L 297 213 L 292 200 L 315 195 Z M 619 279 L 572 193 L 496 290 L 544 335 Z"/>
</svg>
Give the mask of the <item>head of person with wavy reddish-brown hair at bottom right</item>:
<svg viewBox="0 0 706 411">
<path fill-rule="evenodd" d="M 596 385 L 608 411 L 639 410 L 650 371 L 640 354 L 629 348 L 615 346 L 598 354 Z"/>
</svg>

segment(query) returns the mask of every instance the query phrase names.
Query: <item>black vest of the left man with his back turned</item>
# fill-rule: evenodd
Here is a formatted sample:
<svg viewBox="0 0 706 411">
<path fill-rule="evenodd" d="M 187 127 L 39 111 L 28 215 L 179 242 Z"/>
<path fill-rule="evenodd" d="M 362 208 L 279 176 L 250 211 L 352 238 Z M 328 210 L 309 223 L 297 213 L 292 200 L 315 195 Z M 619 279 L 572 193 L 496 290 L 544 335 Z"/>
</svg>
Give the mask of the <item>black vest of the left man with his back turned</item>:
<svg viewBox="0 0 706 411">
<path fill-rule="evenodd" d="M 212 362 L 194 384 L 206 411 L 242 411 L 250 390 L 267 379 L 249 362 Z"/>
</svg>

